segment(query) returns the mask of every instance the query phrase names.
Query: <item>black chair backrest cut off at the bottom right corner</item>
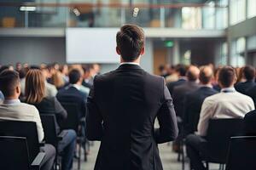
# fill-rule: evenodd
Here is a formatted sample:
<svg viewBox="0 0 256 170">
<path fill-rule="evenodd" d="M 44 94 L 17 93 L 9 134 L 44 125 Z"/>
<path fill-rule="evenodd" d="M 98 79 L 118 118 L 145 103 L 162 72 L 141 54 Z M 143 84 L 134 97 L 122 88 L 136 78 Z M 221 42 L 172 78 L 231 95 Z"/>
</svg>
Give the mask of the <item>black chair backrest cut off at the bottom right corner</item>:
<svg viewBox="0 0 256 170">
<path fill-rule="evenodd" d="M 226 170 L 256 169 L 256 136 L 231 137 Z"/>
</svg>

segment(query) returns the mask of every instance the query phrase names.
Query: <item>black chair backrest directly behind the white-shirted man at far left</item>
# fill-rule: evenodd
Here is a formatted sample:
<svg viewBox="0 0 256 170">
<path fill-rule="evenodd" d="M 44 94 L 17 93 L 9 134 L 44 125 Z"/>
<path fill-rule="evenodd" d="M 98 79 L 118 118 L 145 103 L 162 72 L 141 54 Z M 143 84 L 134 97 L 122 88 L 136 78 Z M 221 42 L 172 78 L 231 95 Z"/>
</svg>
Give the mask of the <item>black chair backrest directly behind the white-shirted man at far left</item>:
<svg viewBox="0 0 256 170">
<path fill-rule="evenodd" d="M 30 163 L 38 155 L 39 143 L 36 122 L 1 121 L 0 135 L 25 137 L 29 150 Z"/>
</svg>

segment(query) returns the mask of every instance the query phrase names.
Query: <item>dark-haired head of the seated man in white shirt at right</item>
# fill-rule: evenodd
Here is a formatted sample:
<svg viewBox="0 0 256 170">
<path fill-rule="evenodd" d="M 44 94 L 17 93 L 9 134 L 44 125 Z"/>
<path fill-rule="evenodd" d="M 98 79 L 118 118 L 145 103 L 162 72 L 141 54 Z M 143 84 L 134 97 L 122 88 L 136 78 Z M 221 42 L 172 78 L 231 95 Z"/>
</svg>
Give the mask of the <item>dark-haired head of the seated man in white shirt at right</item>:
<svg viewBox="0 0 256 170">
<path fill-rule="evenodd" d="M 236 80 L 236 70 L 231 66 L 224 66 L 218 72 L 218 82 L 221 83 L 224 88 L 229 88 Z"/>
</svg>

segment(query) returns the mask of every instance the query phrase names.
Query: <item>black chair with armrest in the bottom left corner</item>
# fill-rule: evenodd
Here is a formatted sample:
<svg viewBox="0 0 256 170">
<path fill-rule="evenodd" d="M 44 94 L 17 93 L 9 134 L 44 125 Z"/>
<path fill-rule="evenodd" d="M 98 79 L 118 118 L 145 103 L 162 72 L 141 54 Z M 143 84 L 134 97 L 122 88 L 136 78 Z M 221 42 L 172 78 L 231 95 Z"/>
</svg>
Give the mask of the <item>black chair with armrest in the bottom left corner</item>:
<svg viewBox="0 0 256 170">
<path fill-rule="evenodd" d="M 0 136 L 0 150 L 0 169 L 39 170 L 45 156 L 44 152 L 39 152 L 30 162 L 24 137 Z"/>
</svg>

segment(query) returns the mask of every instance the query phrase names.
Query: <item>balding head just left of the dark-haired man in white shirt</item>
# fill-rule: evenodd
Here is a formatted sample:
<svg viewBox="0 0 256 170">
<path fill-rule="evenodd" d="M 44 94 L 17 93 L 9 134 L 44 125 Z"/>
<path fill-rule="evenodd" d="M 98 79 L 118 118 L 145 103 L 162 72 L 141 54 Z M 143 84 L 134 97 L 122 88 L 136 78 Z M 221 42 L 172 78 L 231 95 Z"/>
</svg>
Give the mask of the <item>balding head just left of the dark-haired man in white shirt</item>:
<svg viewBox="0 0 256 170">
<path fill-rule="evenodd" d="M 207 85 L 211 83 L 213 71 L 211 66 L 202 66 L 200 68 L 199 80 L 201 84 Z"/>
</svg>

